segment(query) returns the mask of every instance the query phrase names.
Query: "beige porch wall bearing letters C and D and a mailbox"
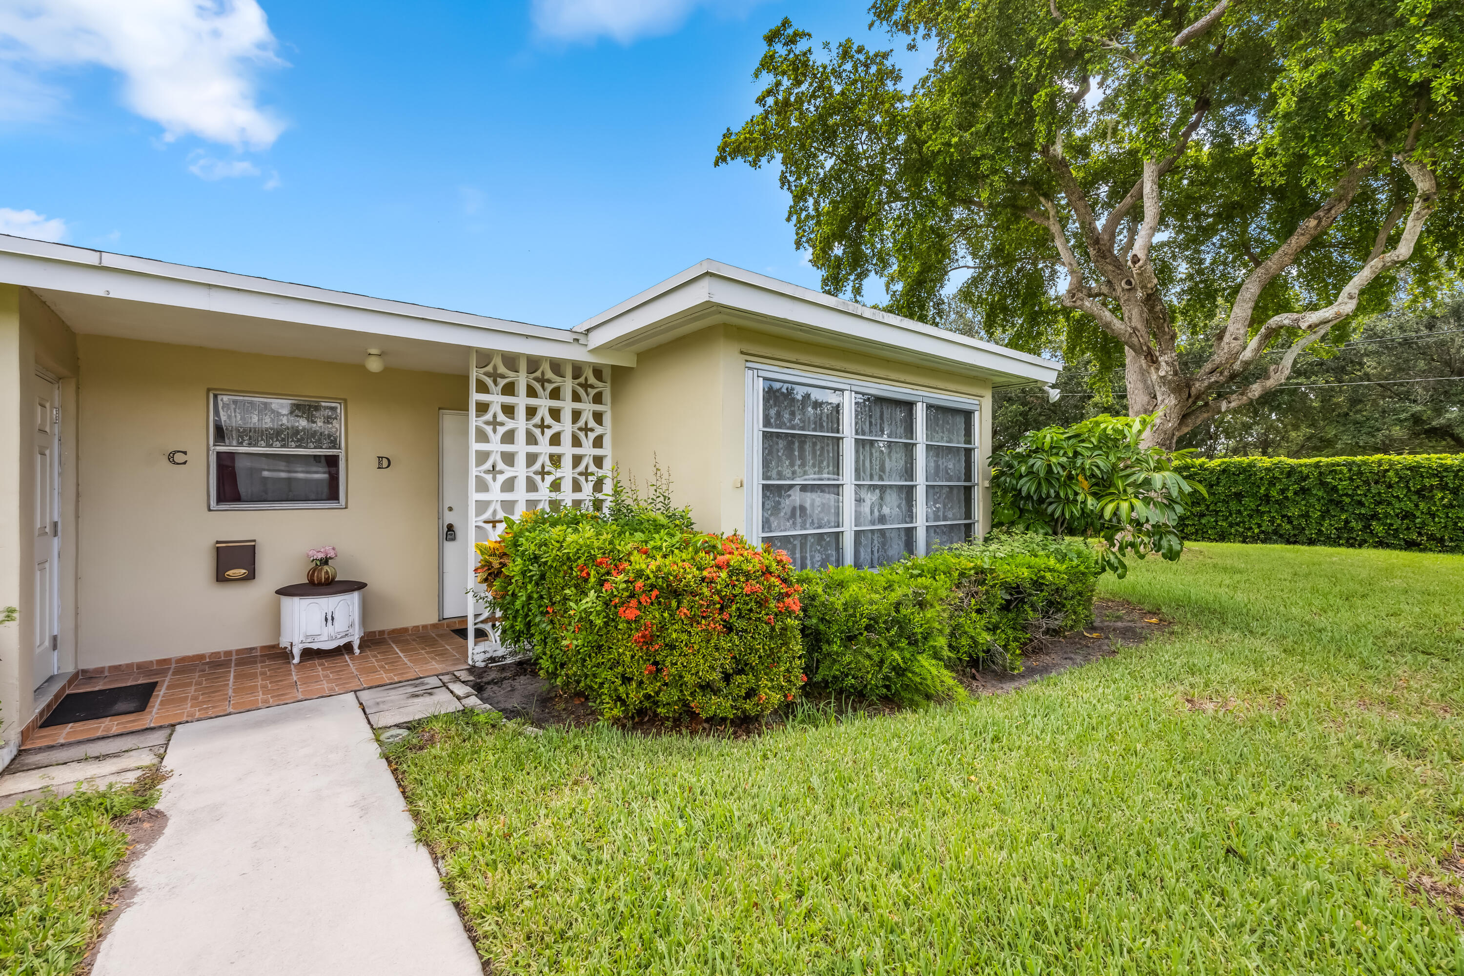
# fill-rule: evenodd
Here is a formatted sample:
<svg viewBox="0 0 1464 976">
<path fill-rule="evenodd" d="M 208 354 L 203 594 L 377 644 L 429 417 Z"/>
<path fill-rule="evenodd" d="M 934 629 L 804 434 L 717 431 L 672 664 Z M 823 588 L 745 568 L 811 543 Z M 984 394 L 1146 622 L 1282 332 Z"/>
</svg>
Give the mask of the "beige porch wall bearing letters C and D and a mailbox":
<svg viewBox="0 0 1464 976">
<path fill-rule="evenodd" d="M 79 667 L 274 644 L 274 590 L 313 546 L 369 584 L 366 629 L 438 619 L 438 411 L 467 408 L 467 376 L 100 335 L 79 351 Z M 211 389 L 344 399 L 347 506 L 211 512 Z M 228 538 L 258 540 L 256 579 L 215 582 Z"/>
</svg>

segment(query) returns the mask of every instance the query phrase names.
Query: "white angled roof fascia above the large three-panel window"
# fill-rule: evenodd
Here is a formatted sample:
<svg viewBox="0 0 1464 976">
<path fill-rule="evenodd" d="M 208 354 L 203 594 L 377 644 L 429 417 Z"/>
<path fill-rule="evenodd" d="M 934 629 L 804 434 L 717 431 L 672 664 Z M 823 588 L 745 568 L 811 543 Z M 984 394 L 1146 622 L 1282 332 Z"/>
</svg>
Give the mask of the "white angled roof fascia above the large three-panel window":
<svg viewBox="0 0 1464 976">
<path fill-rule="evenodd" d="M 915 360 L 955 372 L 1051 383 L 1061 363 L 994 342 L 938 329 L 878 309 L 836 299 L 716 260 L 682 271 L 613 309 L 574 326 L 591 350 L 644 351 L 710 325 L 719 312 L 754 328 L 788 331 L 799 338 L 874 347 L 892 359 Z M 738 315 L 739 313 L 739 315 Z"/>
</svg>

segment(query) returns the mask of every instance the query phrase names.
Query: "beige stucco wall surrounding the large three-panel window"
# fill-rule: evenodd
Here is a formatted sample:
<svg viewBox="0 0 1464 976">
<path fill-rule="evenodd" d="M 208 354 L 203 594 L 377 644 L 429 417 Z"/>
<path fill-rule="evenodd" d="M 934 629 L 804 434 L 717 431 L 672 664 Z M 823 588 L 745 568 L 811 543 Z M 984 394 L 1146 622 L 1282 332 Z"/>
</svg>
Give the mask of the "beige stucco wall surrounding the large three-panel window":
<svg viewBox="0 0 1464 976">
<path fill-rule="evenodd" d="M 698 528 L 723 533 L 745 530 L 747 492 L 751 490 L 747 484 L 750 363 L 979 401 L 978 531 L 991 527 L 987 490 L 990 380 L 726 323 L 641 353 L 634 369 L 615 369 L 610 442 L 622 477 L 634 476 L 641 483 L 649 480 L 654 452 L 662 468 L 671 468 L 673 499 L 678 505 L 691 505 Z"/>
</svg>

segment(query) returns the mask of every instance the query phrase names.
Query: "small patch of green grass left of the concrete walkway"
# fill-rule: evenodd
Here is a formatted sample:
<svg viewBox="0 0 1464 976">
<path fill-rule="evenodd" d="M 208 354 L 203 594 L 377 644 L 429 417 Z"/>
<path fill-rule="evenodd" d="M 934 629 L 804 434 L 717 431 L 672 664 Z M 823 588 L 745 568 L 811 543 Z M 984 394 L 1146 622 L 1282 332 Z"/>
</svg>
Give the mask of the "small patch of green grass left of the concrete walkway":
<svg viewBox="0 0 1464 976">
<path fill-rule="evenodd" d="M 155 800 L 145 784 L 0 811 L 0 973 L 64 976 L 82 961 L 127 853 L 111 821 Z"/>
</svg>

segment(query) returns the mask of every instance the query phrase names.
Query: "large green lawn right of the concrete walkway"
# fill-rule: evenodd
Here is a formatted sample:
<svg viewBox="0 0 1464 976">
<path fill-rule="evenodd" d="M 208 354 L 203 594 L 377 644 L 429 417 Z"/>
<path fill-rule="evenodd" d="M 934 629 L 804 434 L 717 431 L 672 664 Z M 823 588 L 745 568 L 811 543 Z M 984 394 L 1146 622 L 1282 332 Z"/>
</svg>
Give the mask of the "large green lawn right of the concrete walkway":
<svg viewBox="0 0 1464 976">
<path fill-rule="evenodd" d="M 895 717 L 441 717 L 394 762 L 495 972 L 1464 973 L 1464 558 L 1199 544 L 1101 594 L 1177 623 Z"/>
</svg>

